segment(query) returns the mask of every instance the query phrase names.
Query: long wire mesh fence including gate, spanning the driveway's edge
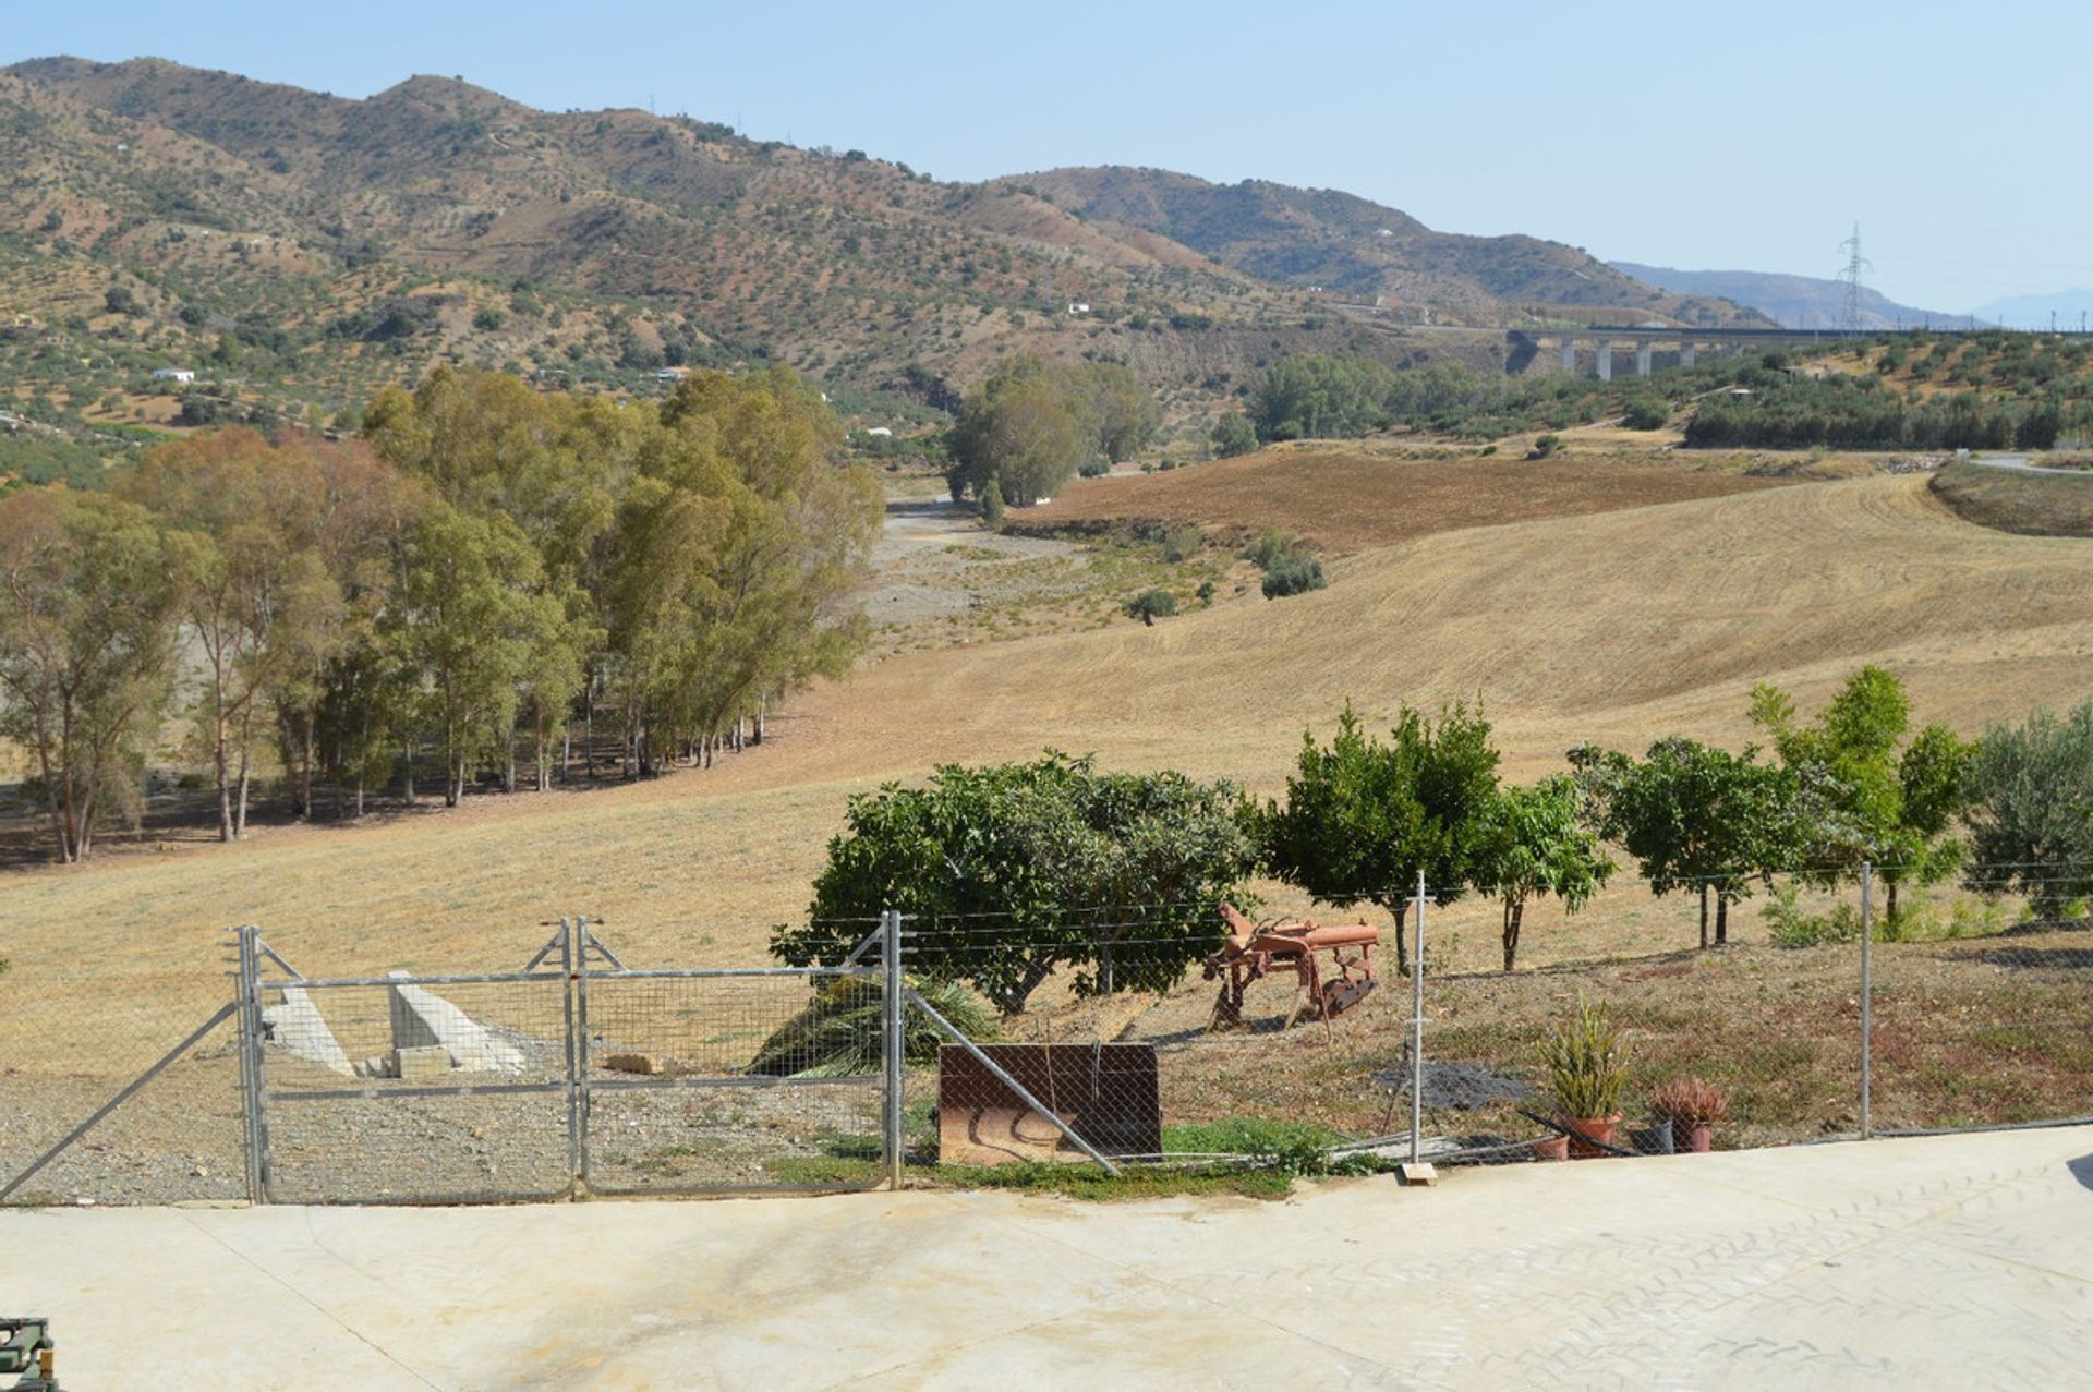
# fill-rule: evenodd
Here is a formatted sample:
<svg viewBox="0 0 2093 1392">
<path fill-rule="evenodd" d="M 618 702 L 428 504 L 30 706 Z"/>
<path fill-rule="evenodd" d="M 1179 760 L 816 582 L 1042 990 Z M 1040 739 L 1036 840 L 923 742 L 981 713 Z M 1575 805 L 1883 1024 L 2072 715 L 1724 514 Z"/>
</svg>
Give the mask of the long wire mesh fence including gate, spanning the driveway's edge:
<svg viewBox="0 0 2093 1392">
<path fill-rule="evenodd" d="M 2093 923 L 2045 896 L 2087 869 L 1967 875 L 2013 898 L 1905 888 L 1892 917 L 1869 871 L 1748 929 L 1737 908 L 1708 950 L 1658 900 L 1676 950 L 1639 923 L 1513 971 L 1473 969 L 1488 906 L 1430 885 L 1404 963 L 1388 923 L 1210 904 L 887 913 L 843 961 L 743 969 L 634 967 L 576 919 L 521 967 L 303 978 L 241 929 L 216 990 L 170 1001 L 117 963 L 100 1011 L 0 1017 L 0 1199 L 1323 1172 L 2093 1118 Z M 1586 913 L 1635 900 L 1610 904 Z"/>
</svg>

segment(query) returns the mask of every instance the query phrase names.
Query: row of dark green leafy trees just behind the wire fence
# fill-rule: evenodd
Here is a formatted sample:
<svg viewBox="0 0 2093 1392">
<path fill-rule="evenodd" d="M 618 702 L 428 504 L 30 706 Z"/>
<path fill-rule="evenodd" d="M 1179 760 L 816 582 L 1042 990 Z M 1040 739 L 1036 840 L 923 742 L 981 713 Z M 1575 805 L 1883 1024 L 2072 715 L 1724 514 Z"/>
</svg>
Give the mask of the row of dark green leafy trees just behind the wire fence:
<svg viewBox="0 0 2093 1392">
<path fill-rule="evenodd" d="M 1766 747 L 1668 737 L 1637 760 L 1584 745 L 1568 772 L 1505 785 L 1478 710 L 1402 708 L 1381 739 L 1348 708 L 1329 743 L 1304 737 L 1285 795 L 1264 804 L 1057 754 L 940 768 L 925 789 L 852 802 L 810 923 L 781 927 L 772 948 L 835 961 L 900 908 L 919 921 L 910 952 L 927 975 L 1017 1011 L 1057 965 L 1090 992 L 1176 984 L 1216 946 L 1218 904 L 1245 904 L 1258 873 L 1321 904 L 1383 908 L 1398 969 L 1419 883 L 1438 902 L 1494 898 L 1511 971 L 1526 911 L 1584 906 L 1616 871 L 1610 846 L 1651 894 L 1700 898 L 1702 946 L 1727 942 L 1729 908 L 1777 875 L 1836 888 L 1873 867 L 1892 923 L 1900 888 L 1957 869 L 1986 894 L 2022 890 L 2039 913 L 2093 894 L 2093 703 L 1965 743 L 1940 724 L 1913 731 L 1903 684 L 1869 666 L 1815 720 L 1762 684 L 1752 720 Z"/>
</svg>

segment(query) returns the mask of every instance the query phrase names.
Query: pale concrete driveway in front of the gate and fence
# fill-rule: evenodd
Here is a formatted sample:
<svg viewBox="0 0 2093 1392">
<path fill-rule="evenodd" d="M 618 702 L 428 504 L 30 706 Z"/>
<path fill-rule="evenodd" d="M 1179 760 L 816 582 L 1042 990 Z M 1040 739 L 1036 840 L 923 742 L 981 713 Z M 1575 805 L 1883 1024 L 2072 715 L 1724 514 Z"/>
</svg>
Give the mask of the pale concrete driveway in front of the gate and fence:
<svg viewBox="0 0 2093 1392">
<path fill-rule="evenodd" d="M 0 1214 L 67 1388 L 2093 1384 L 2093 1128 L 1342 1181 Z"/>
</svg>

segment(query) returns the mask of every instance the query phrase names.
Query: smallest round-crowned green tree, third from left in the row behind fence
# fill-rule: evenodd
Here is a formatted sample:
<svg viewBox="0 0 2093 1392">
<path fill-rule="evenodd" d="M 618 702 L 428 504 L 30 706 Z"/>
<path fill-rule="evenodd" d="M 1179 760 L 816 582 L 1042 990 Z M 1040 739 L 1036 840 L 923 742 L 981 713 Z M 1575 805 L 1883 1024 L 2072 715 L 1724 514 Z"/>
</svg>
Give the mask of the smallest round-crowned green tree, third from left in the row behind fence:
<svg viewBox="0 0 2093 1392">
<path fill-rule="evenodd" d="M 1482 816 L 1473 883 L 1503 908 L 1505 971 L 1520 957 L 1526 904 L 1553 894 L 1576 913 L 1614 875 L 1614 860 L 1584 825 L 1584 795 L 1572 774 L 1507 787 Z"/>
</svg>

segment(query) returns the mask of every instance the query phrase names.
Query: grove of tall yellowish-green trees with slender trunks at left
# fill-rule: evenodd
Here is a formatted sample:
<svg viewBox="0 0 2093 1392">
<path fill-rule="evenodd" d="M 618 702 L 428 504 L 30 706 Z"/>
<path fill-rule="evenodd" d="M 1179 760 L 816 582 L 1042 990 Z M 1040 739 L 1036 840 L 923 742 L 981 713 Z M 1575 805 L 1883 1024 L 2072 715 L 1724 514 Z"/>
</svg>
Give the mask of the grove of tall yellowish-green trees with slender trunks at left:
<svg viewBox="0 0 2093 1392">
<path fill-rule="evenodd" d="M 433 373 L 364 440 L 232 427 L 151 450 L 109 494 L 0 502 L 0 735 L 36 760 L 63 860 L 136 806 L 178 697 L 224 839 L 260 756 L 308 814 L 417 754 L 456 804 L 538 787 L 609 705 L 624 764 L 710 756 L 764 701 L 837 672 L 879 488 L 789 373 L 687 379 L 659 408 Z"/>
</svg>

